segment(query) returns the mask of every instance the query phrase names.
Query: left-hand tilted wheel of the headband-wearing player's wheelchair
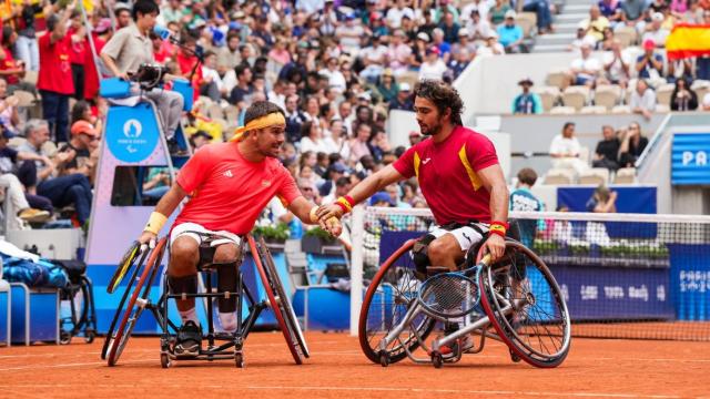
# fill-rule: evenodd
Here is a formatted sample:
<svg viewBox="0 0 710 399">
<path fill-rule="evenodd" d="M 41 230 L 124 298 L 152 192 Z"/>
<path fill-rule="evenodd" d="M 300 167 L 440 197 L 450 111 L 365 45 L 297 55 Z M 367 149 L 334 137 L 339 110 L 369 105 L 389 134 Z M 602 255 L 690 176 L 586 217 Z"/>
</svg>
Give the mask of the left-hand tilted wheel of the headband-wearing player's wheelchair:
<svg viewBox="0 0 710 399">
<path fill-rule="evenodd" d="M 131 294 L 131 298 L 125 306 L 125 310 L 123 311 L 123 317 L 121 318 L 119 328 L 115 330 L 113 337 L 111 337 L 108 356 L 109 366 L 115 366 L 115 364 L 119 361 L 119 358 L 121 357 L 123 349 L 125 349 L 125 345 L 128 344 L 129 338 L 131 338 L 133 328 L 135 327 L 135 324 L 141 317 L 143 309 L 145 308 L 148 296 L 150 295 L 151 287 L 153 285 L 153 279 L 155 278 L 155 275 L 160 269 L 160 264 L 165 252 L 166 242 L 168 237 L 163 237 L 160 242 L 158 242 L 155 248 L 151 250 L 150 256 L 148 257 L 145 267 L 143 267 L 143 272 L 141 273 L 141 278 L 135 284 L 135 287 L 133 288 L 133 291 Z"/>
</svg>

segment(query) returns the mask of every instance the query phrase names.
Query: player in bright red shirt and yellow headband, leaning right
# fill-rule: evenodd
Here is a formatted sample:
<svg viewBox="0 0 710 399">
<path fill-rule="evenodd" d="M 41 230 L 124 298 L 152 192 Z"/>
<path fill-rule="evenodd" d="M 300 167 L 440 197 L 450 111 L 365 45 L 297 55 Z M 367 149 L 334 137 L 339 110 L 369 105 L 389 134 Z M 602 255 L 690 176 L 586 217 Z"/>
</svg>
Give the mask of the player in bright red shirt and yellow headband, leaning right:
<svg viewBox="0 0 710 399">
<path fill-rule="evenodd" d="M 242 257 L 240 244 L 274 195 L 304 223 L 316 223 L 317 205 L 304 198 L 278 160 L 286 140 L 283 110 L 268 101 L 254 102 L 246 110 L 244 122 L 246 125 L 232 141 L 209 144 L 195 152 L 155 206 L 139 238 L 143 248 L 154 246 L 168 217 L 185 197 L 190 197 L 170 232 L 168 282 L 172 293 L 197 291 L 196 266 L 202 236 L 195 232 L 220 236 L 212 244 L 216 246 L 213 262 L 231 267 L 223 266 L 217 285 L 221 290 L 234 291 L 237 262 Z M 334 222 L 337 221 L 331 221 Z M 339 234 L 339 224 L 322 225 L 334 235 Z M 200 352 L 202 331 L 194 298 L 176 303 L 183 324 L 173 352 L 195 356 Z M 234 331 L 235 298 L 220 298 L 219 309 L 222 328 Z"/>
</svg>

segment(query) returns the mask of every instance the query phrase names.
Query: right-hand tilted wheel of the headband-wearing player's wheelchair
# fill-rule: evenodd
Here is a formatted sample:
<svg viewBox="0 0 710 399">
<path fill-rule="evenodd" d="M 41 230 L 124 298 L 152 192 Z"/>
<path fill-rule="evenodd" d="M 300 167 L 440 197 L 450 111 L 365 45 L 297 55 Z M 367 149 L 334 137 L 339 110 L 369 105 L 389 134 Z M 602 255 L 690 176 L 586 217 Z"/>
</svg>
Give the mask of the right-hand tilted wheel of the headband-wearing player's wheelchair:
<svg viewBox="0 0 710 399">
<path fill-rule="evenodd" d="M 254 258 L 254 264 L 256 265 L 256 270 L 258 272 L 258 276 L 264 285 L 264 291 L 266 291 L 266 297 L 268 298 L 271 308 L 274 311 L 276 321 L 278 323 L 278 328 L 286 339 L 288 351 L 291 351 L 291 356 L 293 356 L 296 365 L 302 365 L 302 357 L 307 357 L 306 354 L 308 352 L 308 349 L 305 347 L 305 342 L 304 346 L 301 346 L 298 341 L 298 339 L 303 339 L 303 336 L 301 335 L 301 327 L 298 326 L 297 320 L 295 320 L 295 317 L 293 318 L 293 323 L 286 321 L 292 318 L 292 314 L 286 308 L 286 306 L 290 307 L 290 304 L 284 305 L 288 303 L 288 296 L 283 291 L 283 285 L 281 284 L 278 274 L 272 274 L 267 269 L 267 262 L 265 259 L 267 257 L 271 258 L 271 255 L 266 252 L 265 246 L 260 247 L 256 245 L 256 242 L 251 234 L 246 236 L 246 239 L 248 242 L 252 257 Z"/>
</svg>

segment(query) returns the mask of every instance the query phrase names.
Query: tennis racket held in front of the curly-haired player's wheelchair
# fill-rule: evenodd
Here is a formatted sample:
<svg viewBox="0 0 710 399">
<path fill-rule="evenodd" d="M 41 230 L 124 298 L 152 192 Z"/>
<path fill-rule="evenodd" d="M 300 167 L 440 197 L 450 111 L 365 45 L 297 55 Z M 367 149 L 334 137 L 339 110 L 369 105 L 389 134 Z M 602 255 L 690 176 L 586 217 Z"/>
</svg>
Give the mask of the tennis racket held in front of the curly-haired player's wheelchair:
<svg viewBox="0 0 710 399">
<path fill-rule="evenodd" d="M 427 313 L 445 319 L 468 315 L 480 300 L 478 274 L 489 260 L 490 255 L 486 255 L 476 266 L 465 270 L 429 277 L 419 287 L 419 304 Z"/>
</svg>

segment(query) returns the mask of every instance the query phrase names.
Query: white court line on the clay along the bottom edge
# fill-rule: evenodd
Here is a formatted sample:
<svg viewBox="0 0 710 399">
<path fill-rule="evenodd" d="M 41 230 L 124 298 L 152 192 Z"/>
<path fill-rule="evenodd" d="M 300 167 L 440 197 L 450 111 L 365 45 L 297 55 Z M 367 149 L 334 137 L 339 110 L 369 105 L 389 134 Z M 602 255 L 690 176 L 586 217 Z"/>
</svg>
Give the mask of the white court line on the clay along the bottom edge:
<svg viewBox="0 0 710 399">
<path fill-rule="evenodd" d="M 194 388 L 194 385 L 180 385 L 175 381 L 150 382 L 153 387 Z M 7 385 L 9 388 L 75 388 L 78 385 L 69 383 L 18 383 Z M 92 383 L 92 388 L 118 389 L 139 388 L 138 383 Z M 201 385 L 202 389 L 234 389 L 234 385 Z M 514 391 L 514 390 L 481 390 L 481 389 L 430 389 L 430 388 L 399 388 L 399 387 L 291 387 L 291 386 L 250 386 L 239 387 L 251 390 L 302 390 L 302 391 L 367 391 L 367 392 L 415 392 L 415 393 L 458 393 L 458 395 L 505 395 L 505 396 L 534 396 L 534 397 L 576 397 L 576 398 L 680 398 L 673 395 L 636 395 L 636 393 L 609 393 L 609 392 L 545 392 L 545 391 Z"/>
</svg>

